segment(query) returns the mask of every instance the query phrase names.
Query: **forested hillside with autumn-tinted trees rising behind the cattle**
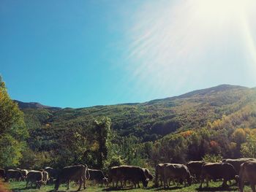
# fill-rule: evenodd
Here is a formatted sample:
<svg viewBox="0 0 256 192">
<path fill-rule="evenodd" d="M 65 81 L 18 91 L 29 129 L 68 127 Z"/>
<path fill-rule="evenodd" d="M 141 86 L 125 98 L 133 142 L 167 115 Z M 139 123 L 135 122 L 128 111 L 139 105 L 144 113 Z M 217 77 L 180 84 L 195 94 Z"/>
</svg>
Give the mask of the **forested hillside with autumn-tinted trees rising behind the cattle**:
<svg viewBox="0 0 256 192">
<path fill-rule="evenodd" d="M 23 154 L 23 164 L 33 161 L 37 166 L 80 161 L 99 166 L 95 120 L 103 117 L 111 120 L 108 166 L 150 166 L 159 161 L 201 159 L 207 154 L 238 157 L 248 133 L 252 135 L 249 131 L 256 128 L 255 88 L 233 85 L 141 104 L 79 109 L 17 102 L 30 134 L 30 150 Z M 238 136 L 234 136 L 236 128 L 242 132 Z"/>
</svg>

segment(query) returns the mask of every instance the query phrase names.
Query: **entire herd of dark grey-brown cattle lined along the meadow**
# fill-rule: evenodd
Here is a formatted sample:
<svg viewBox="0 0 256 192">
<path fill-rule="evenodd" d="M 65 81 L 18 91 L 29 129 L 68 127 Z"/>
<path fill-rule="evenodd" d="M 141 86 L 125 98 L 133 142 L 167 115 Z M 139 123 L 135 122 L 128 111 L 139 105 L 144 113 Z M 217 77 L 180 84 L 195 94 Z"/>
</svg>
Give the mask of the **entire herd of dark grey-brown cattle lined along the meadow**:
<svg viewBox="0 0 256 192">
<path fill-rule="evenodd" d="M 55 191 L 59 190 L 61 183 L 67 183 L 69 189 L 70 181 L 79 184 L 78 191 L 86 188 L 86 180 L 98 185 L 111 185 L 113 188 L 123 188 L 127 183 L 132 184 L 135 188 L 140 188 L 140 183 L 146 188 L 149 180 L 154 179 L 155 187 L 163 186 L 168 188 L 170 183 L 176 185 L 191 185 L 192 183 L 200 183 L 199 188 L 203 187 L 203 183 L 210 180 L 222 180 L 222 187 L 227 188 L 227 182 L 236 182 L 240 191 L 244 191 L 244 183 L 249 183 L 253 192 L 256 185 L 256 159 L 255 158 L 237 158 L 223 159 L 217 163 L 207 163 L 203 161 L 189 161 L 184 164 L 157 164 L 155 166 L 154 177 L 148 169 L 139 166 L 113 166 L 108 170 L 108 177 L 103 174 L 102 170 L 89 169 L 86 165 L 65 166 L 63 169 L 53 169 L 45 167 L 40 170 L 26 169 L 0 169 L 0 177 L 6 182 L 10 180 L 26 181 L 26 188 L 30 183 L 30 188 L 41 188 L 42 185 L 55 184 Z M 115 185 L 116 184 L 116 185 Z"/>
</svg>

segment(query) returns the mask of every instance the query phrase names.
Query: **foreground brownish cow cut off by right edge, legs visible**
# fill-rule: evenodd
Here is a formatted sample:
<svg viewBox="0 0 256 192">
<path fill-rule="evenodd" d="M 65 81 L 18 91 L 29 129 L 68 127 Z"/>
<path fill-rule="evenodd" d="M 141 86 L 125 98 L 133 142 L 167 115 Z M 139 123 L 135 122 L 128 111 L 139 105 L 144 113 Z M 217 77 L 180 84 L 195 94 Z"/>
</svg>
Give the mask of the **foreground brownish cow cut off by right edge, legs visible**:
<svg viewBox="0 0 256 192">
<path fill-rule="evenodd" d="M 241 192 L 244 192 L 244 181 L 249 181 L 252 191 L 256 192 L 256 161 L 246 161 L 240 166 L 238 187 Z"/>
</svg>

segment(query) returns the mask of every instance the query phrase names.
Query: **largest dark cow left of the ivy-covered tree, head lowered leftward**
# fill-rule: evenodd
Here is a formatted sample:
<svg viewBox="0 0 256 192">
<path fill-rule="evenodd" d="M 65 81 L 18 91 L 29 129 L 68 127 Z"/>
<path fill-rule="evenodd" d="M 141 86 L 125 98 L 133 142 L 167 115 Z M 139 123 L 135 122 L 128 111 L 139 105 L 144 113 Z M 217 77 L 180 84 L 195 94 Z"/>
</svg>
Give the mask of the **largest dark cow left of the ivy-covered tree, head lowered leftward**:
<svg viewBox="0 0 256 192">
<path fill-rule="evenodd" d="M 79 181 L 79 188 L 80 191 L 81 186 L 83 184 L 83 188 L 86 189 L 86 172 L 88 166 L 87 165 L 74 165 L 74 166 L 65 166 L 61 169 L 59 176 L 57 177 L 55 189 L 58 191 L 59 185 L 61 183 L 67 182 L 67 190 L 69 190 L 69 183 L 71 180 Z"/>
</svg>

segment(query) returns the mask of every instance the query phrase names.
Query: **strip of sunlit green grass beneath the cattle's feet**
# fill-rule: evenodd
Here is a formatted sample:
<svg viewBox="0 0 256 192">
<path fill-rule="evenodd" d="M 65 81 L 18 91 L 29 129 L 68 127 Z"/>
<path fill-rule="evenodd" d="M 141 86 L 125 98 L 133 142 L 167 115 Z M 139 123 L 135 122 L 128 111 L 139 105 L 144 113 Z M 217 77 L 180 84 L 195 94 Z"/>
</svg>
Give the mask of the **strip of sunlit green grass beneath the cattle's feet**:
<svg viewBox="0 0 256 192">
<path fill-rule="evenodd" d="M 199 184 L 193 184 L 187 187 L 184 187 L 183 185 L 180 186 L 176 186 L 176 185 L 172 185 L 170 186 L 170 188 L 168 189 L 164 189 L 164 188 L 153 188 L 152 187 L 153 183 L 149 183 L 148 188 L 124 188 L 124 189 L 113 189 L 113 188 L 100 188 L 98 186 L 91 186 L 91 185 L 87 185 L 86 190 L 82 190 L 82 191 L 88 191 L 88 192 L 92 192 L 92 191 L 129 191 L 129 192 L 149 192 L 149 191 L 185 191 L 185 192 L 192 192 L 192 191 L 238 191 L 238 187 L 236 185 L 232 185 L 229 188 L 220 188 L 219 186 L 222 185 L 221 182 L 216 182 L 216 183 L 209 183 L 209 187 L 208 188 L 202 188 L 199 189 Z M 76 191 L 78 189 L 78 185 L 75 185 L 74 183 L 72 185 L 70 185 L 70 189 L 69 191 Z M 205 186 L 205 185 L 203 185 Z M 10 191 L 24 191 L 24 192 L 32 192 L 32 191 L 38 191 L 38 192 L 45 192 L 45 191 L 53 191 L 54 185 L 46 185 L 43 186 L 40 190 L 39 189 L 34 189 L 34 188 L 28 188 L 26 189 L 26 182 L 10 182 L 7 186 L 7 188 L 10 189 Z M 67 185 L 61 185 L 61 187 L 59 188 L 59 191 L 67 191 Z M 249 188 L 249 186 L 245 187 L 245 191 L 251 191 L 251 188 Z"/>
</svg>

